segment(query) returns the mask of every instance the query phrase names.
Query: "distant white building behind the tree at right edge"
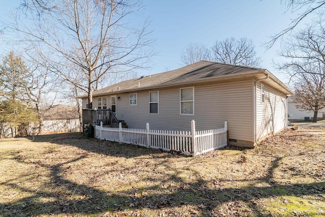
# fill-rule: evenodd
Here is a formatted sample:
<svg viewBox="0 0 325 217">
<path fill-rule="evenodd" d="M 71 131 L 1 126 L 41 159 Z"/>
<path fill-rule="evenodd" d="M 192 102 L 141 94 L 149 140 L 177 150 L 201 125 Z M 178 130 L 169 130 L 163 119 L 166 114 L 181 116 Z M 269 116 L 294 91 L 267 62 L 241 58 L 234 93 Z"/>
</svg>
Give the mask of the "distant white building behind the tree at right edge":
<svg viewBox="0 0 325 217">
<path fill-rule="evenodd" d="M 311 111 L 301 111 L 299 110 L 294 100 L 289 97 L 288 98 L 288 120 L 291 122 L 301 121 L 301 120 L 311 120 L 314 117 L 314 112 Z M 318 111 L 317 119 L 325 119 L 325 109 Z"/>
</svg>

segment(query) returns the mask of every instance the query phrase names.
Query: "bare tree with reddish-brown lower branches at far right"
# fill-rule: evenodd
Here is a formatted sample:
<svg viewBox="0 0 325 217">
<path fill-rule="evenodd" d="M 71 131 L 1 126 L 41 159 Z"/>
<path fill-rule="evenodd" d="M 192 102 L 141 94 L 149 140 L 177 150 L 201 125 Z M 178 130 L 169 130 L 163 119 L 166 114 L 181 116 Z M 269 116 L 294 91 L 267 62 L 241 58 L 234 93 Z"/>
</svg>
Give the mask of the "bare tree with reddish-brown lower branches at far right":
<svg viewBox="0 0 325 217">
<path fill-rule="evenodd" d="M 325 28 L 322 21 L 313 21 L 283 41 L 279 55 L 285 61 L 277 68 L 289 75 L 294 82 L 293 99 L 300 110 L 314 112 L 325 108 Z"/>
</svg>

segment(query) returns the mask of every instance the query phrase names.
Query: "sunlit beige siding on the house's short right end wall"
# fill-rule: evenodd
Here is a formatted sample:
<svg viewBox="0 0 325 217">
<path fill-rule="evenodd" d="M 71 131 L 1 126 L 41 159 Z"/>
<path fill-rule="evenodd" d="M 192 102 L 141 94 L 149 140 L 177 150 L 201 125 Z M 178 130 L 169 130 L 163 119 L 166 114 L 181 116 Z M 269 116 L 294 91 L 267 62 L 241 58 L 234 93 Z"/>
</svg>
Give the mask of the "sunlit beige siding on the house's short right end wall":
<svg viewBox="0 0 325 217">
<path fill-rule="evenodd" d="M 277 133 L 286 128 L 286 96 L 265 86 L 265 101 L 261 101 L 261 84 L 256 84 L 256 138 Z"/>
</svg>

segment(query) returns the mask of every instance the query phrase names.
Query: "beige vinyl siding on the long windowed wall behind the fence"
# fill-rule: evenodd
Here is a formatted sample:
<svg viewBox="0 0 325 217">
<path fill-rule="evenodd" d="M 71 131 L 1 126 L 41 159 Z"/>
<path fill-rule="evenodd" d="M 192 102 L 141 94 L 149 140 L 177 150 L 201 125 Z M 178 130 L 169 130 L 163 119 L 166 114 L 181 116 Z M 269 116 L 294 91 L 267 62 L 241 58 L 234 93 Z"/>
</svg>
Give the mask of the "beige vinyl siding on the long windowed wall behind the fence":
<svg viewBox="0 0 325 217">
<path fill-rule="evenodd" d="M 193 87 L 188 85 L 184 87 Z M 183 88 L 183 87 L 182 87 Z M 149 114 L 149 91 L 159 90 L 159 114 Z M 228 121 L 231 139 L 252 141 L 252 80 L 194 86 L 194 115 L 180 114 L 180 88 L 151 89 L 117 94 L 116 115 L 129 128 L 190 131 L 221 128 Z M 137 105 L 129 105 L 129 94 L 137 93 Z M 108 96 L 110 99 L 110 96 Z M 94 100 L 95 101 L 95 100 Z M 110 104 L 110 100 L 108 101 Z M 109 106 L 109 105 L 108 105 Z"/>
</svg>

